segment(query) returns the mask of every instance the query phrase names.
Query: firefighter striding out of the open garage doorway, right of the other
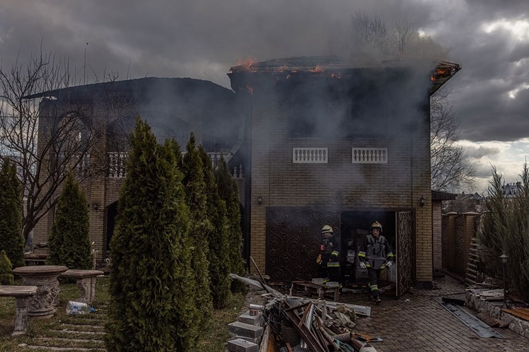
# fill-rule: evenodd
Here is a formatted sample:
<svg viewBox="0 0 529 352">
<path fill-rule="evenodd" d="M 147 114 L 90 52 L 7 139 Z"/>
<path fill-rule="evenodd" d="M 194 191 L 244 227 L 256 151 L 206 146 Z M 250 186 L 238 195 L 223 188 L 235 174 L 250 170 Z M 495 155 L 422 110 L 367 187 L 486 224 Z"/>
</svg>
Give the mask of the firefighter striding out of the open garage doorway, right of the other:
<svg viewBox="0 0 529 352">
<path fill-rule="evenodd" d="M 380 271 L 393 264 L 393 252 L 386 237 L 382 236 L 382 224 L 380 222 L 371 224 L 371 231 L 358 251 L 358 260 L 360 261 L 360 268 L 367 269 L 371 300 L 380 304 L 382 302 L 378 292 Z"/>
</svg>

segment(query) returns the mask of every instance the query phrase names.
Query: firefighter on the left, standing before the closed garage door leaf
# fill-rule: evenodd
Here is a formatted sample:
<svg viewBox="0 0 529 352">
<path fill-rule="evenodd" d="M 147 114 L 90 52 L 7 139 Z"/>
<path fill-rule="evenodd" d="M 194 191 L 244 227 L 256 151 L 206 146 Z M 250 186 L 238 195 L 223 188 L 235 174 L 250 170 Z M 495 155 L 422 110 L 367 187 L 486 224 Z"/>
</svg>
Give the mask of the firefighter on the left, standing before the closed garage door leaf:
<svg viewBox="0 0 529 352">
<path fill-rule="evenodd" d="M 316 277 L 324 282 L 341 282 L 340 275 L 340 239 L 335 236 L 333 228 L 325 225 L 322 228 L 322 245 L 316 260 L 318 271 Z"/>
</svg>

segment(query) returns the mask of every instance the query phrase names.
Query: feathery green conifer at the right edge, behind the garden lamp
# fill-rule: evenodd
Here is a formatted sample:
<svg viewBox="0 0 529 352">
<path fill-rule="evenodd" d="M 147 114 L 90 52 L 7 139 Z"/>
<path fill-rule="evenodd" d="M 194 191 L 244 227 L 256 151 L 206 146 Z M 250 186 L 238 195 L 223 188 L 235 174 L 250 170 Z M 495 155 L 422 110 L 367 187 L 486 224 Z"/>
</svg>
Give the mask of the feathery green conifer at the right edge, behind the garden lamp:
<svg viewBox="0 0 529 352">
<path fill-rule="evenodd" d="M 519 293 L 529 292 L 529 169 L 524 164 L 517 196 L 503 195 L 502 177 L 492 168 L 487 213 L 478 233 L 481 256 L 488 274 L 503 275 L 500 255 L 508 255 L 506 280 Z"/>
</svg>

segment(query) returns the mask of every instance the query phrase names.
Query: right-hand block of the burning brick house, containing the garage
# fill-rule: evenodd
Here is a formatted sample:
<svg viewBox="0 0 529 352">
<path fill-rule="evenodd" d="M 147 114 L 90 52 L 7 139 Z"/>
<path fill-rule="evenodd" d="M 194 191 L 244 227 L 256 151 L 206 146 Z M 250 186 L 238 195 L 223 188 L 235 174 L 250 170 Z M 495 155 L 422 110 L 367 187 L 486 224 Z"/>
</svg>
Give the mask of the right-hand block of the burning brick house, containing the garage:
<svg viewBox="0 0 529 352">
<path fill-rule="evenodd" d="M 245 117 L 245 244 L 273 280 L 315 275 L 324 225 L 340 236 L 344 280 L 362 275 L 355 253 L 378 221 L 397 295 L 431 283 L 429 97 L 459 69 L 336 57 L 231 68 Z"/>
</svg>

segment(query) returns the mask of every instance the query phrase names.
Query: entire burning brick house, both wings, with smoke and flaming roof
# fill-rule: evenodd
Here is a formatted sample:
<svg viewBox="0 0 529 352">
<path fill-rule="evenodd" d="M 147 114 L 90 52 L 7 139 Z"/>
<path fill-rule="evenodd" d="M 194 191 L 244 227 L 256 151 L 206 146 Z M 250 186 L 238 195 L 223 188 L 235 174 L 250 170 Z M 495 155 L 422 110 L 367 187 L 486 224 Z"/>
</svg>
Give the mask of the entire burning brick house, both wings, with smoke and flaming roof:
<svg viewBox="0 0 529 352">
<path fill-rule="evenodd" d="M 232 90 L 194 79 L 92 84 L 43 93 L 40 114 L 67 113 L 75 97 L 104 126 L 108 172 L 85 182 L 98 260 L 109 250 L 126 172 L 122 136 L 140 115 L 160 139 L 183 146 L 194 132 L 208 152 L 225 156 L 239 182 L 243 255 L 273 280 L 315 275 L 324 225 L 342 242 L 344 281 L 363 275 L 353 259 L 378 221 L 396 254 L 399 294 L 432 280 L 429 97 L 459 69 L 337 57 L 248 62 L 230 69 Z M 95 104 L 108 103 L 109 89 L 126 106 Z M 35 228 L 35 243 L 46 242 L 52 214 Z"/>
</svg>

